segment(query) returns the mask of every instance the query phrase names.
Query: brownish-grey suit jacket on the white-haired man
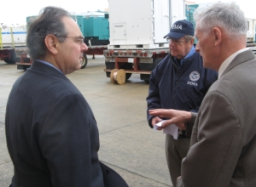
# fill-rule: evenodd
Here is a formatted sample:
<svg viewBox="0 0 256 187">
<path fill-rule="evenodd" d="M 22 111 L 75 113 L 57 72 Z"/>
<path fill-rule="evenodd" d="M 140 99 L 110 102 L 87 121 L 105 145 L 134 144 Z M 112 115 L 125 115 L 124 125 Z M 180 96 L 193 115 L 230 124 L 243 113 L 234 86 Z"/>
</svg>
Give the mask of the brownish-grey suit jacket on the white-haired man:
<svg viewBox="0 0 256 187">
<path fill-rule="evenodd" d="M 203 99 L 177 186 L 256 186 L 256 59 L 238 54 Z"/>
</svg>

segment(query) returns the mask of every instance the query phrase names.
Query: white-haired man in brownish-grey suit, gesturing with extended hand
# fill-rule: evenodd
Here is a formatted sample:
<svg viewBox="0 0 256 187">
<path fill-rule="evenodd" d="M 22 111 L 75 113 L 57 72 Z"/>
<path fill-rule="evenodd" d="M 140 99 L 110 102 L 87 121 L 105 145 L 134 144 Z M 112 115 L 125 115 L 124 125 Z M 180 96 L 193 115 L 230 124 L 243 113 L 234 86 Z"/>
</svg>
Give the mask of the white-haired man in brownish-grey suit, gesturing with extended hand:
<svg viewBox="0 0 256 187">
<path fill-rule="evenodd" d="M 194 17 L 196 49 L 218 81 L 202 101 L 177 187 L 256 186 L 256 59 L 246 48 L 247 20 L 235 3 L 196 9 Z M 150 114 L 174 116 L 163 127 L 191 117 L 174 110 Z"/>
</svg>

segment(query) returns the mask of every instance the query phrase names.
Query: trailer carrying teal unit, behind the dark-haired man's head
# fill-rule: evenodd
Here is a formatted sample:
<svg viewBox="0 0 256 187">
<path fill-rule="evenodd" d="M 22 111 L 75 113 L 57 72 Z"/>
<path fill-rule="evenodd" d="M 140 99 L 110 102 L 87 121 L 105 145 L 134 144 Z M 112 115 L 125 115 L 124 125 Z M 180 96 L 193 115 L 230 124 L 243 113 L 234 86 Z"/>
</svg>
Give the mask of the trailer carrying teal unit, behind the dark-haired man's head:
<svg viewBox="0 0 256 187">
<path fill-rule="evenodd" d="M 95 55 L 103 55 L 103 51 L 108 48 L 108 14 L 106 12 L 96 11 L 73 15 L 72 17 L 78 23 L 85 37 L 84 42 L 88 46 L 88 50 L 84 52 L 84 58 L 81 61 L 81 69 L 84 69 L 88 62 L 87 55 L 92 55 L 92 59 L 95 59 Z M 35 15 L 26 17 L 27 26 L 35 19 L 37 19 Z M 26 70 L 32 65 L 28 48 L 16 48 L 15 55 L 18 70 Z"/>
</svg>

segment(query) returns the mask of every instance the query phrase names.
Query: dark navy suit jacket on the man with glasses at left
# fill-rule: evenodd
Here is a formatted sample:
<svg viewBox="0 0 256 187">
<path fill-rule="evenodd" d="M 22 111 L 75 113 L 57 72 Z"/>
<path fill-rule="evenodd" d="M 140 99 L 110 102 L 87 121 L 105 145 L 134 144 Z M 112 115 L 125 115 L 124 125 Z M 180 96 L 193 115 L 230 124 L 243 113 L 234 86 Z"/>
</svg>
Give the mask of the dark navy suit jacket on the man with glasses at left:
<svg viewBox="0 0 256 187">
<path fill-rule="evenodd" d="M 9 94 L 5 122 L 13 187 L 104 186 L 96 120 L 60 71 L 34 61 Z"/>
</svg>

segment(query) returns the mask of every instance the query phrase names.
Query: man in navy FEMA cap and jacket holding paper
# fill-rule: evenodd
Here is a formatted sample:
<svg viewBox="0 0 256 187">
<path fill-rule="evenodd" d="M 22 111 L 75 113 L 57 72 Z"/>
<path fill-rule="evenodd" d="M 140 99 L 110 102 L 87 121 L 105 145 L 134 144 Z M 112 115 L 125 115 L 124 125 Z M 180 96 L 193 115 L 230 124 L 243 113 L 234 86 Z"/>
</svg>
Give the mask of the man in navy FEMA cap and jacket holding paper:
<svg viewBox="0 0 256 187">
<path fill-rule="evenodd" d="M 199 110 L 208 88 L 218 78 L 217 71 L 203 67 L 202 58 L 195 51 L 191 22 L 178 20 L 165 37 L 170 54 L 154 68 L 149 80 L 147 115 L 150 127 L 163 120 L 160 116 L 150 116 L 148 111 L 151 109 L 191 111 L 193 116 Z M 173 139 L 172 135 L 166 134 L 166 160 L 173 186 L 181 175 L 181 161 L 188 153 L 194 122 L 191 120 L 175 125 L 179 127 L 178 138 Z"/>
</svg>

